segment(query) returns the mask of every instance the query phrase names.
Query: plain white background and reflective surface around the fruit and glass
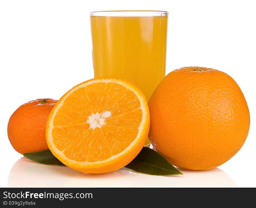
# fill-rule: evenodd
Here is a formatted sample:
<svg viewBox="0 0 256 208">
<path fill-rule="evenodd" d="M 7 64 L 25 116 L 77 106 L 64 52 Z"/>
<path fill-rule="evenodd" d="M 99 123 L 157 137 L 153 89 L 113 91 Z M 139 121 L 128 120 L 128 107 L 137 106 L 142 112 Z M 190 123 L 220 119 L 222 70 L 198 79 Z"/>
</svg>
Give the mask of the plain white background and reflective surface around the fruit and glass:
<svg viewBox="0 0 256 208">
<path fill-rule="evenodd" d="M 255 1 L 0 1 L 0 186 L 256 186 Z M 150 176 L 122 169 L 86 175 L 30 162 L 7 137 L 10 115 L 24 102 L 59 99 L 93 78 L 88 13 L 169 11 L 166 73 L 183 66 L 229 74 L 247 100 L 251 125 L 242 149 L 219 168 Z M 16 162 L 17 161 L 17 162 Z M 16 163 L 15 163 L 16 162 Z"/>
</svg>

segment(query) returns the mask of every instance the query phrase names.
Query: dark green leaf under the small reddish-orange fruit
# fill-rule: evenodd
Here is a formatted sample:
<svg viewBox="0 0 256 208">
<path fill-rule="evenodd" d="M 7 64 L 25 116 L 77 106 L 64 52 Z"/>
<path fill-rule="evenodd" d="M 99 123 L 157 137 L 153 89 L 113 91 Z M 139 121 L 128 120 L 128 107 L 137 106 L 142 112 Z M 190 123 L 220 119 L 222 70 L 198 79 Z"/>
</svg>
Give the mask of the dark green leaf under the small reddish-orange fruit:
<svg viewBox="0 0 256 208">
<path fill-rule="evenodd" d="M 24 153 L 24 157 L 36 161 L 38 163 L 42 163 L 45 165 L 58 165 L 65 166 L 61 161 L 59 161 L 50 150 L 45 150 L 42 152 L 32 152 L 32 153 Z"/>
</svg>

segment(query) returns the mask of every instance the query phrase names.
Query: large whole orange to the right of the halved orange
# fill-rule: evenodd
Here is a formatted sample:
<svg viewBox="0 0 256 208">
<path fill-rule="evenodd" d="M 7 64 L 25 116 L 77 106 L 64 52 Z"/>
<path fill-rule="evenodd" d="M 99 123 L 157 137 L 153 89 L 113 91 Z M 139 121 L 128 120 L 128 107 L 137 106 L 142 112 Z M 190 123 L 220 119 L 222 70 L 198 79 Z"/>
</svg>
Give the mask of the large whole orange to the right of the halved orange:
<svg viewBox="0 0 256 208">
<path fill-rule="evenodd" d="M 153 147 L 180 168 L 220 166 L 240 150 L 250 127 L 241 89 L 215 69 L 183 67 L 170 72 L 148 106 Z"/>
</svg>

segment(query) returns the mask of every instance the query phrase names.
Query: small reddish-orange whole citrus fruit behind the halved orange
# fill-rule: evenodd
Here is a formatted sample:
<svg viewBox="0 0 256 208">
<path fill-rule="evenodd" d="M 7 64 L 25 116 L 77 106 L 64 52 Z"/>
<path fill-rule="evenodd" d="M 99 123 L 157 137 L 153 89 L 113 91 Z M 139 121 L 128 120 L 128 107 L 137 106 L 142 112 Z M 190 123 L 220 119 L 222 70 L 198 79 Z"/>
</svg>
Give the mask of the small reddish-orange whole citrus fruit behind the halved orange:
<svg viewBox="0 0 256 208">
<path fill-rule="evenodd" d="M 56 104 L 54 99 L 36 99 L 24 103 L 11 115 L 8 138 L 13 148 L 21 153 L 47 150 L 45 127 L 48 115 Z"/>
</svg>

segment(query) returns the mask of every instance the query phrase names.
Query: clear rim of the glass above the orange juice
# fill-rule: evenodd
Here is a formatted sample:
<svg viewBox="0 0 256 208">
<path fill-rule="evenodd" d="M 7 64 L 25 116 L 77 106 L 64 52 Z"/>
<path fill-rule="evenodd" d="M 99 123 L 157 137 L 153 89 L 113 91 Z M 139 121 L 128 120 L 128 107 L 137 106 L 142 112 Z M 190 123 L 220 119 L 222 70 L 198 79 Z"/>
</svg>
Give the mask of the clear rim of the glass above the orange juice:
<svg viewBox="0 0 256 208">
<path fill-rule="evenodd" d="M 100 17 L 163 17 L 168 16 L 167 11 L 158 10 L 114 10 L 114 11 L 94 11 L 90 16 Z"/>
</svg>

